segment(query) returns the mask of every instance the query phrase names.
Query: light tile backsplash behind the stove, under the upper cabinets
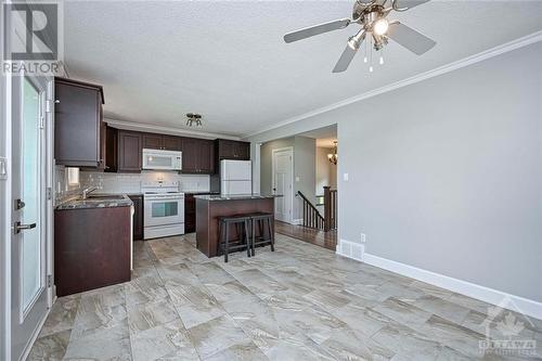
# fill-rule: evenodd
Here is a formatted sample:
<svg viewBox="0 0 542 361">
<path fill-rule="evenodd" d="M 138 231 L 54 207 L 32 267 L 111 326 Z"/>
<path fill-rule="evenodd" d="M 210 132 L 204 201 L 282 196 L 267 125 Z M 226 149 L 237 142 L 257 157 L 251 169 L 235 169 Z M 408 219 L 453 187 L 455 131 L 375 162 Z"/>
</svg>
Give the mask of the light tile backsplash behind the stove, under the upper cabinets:
<svg viewBox="0 0 542 361">
<path fill-rule="evenodd" d="M 141 182 L 178 181 L 182 192 L 208 192 L 209 176 L 179 175 L 176 172 L 142 171 L 141 173 L 106 173 L 98 171 L 81 171 L 81 188 L 96 186 L 100 193 L 139 193 Z"/>
</svg>

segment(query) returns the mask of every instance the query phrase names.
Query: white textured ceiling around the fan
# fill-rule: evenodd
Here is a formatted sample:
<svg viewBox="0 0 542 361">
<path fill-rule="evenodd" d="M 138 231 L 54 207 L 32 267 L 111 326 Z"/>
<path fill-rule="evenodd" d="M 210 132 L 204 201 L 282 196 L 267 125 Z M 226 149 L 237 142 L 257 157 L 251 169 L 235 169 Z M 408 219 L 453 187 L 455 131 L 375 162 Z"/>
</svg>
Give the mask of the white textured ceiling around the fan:
<svg viewBox="0 0 542 361">
<path fill-rule="evenodd" d="M 109 118 L 249 134 L 542 29 L 541 1 L 431 1 L 398 18 L 438 44 L 416 56 L 397 43 L 369 74 L 362 56 L 331 70 L 357 26 L 286 44 L 282 36 L 347 17 L 353 1 L 66 2 L 70 77 L 104 86 Z"/>
</svg>

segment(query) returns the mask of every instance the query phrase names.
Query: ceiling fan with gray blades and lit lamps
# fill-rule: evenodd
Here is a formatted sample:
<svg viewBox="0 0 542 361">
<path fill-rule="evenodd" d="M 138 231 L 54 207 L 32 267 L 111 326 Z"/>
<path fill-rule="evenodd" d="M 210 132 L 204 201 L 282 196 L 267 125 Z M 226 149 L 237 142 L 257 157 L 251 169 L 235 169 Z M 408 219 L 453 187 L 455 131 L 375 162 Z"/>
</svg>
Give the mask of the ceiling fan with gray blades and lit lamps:
<svg viewBox="0 0 542 361">
<path fill-rule="evenodd" d="M 398 0 L 357 0 L 353 4 L 352 18 L 339 18 L 288 33 L 284 36 L 284 41 L 289 43 L 315 35 L 344 29 L 350 24 L 359 24 L 361 29 L 348 39 L 347 47 L 333 68 L 333 73 L 345 72 L 348 68 L 356 52 L 365 39 L 372 43 L 375 51 L 382 50 L 388 43 L 388 39 L 391 39 L 413 53 L 422 55 L 435 47 L 437 42 L 399 21 L 388 21 L 387 16 L 392 11 L 403 12 L 428 1 L 403 0 L 401 3 L 406 7 L 400 8 Z M 380 57 L 382 63 L 383 59 Z M 370 69 L 372 72 L 372 67 Z"/>
</svg>

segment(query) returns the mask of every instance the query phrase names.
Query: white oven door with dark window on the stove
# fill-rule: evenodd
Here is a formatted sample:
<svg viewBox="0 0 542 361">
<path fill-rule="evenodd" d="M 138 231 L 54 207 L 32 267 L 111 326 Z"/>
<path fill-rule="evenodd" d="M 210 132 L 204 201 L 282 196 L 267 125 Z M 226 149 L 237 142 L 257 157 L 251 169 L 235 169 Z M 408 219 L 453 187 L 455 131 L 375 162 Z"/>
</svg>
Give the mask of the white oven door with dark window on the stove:
<svg viewBox="0 0 542 361">
<path fill-rule="evenodd" d="M 145 196 L 145 227 L 179 224 L 184 222 L 184 198 Z"/>
</svg>

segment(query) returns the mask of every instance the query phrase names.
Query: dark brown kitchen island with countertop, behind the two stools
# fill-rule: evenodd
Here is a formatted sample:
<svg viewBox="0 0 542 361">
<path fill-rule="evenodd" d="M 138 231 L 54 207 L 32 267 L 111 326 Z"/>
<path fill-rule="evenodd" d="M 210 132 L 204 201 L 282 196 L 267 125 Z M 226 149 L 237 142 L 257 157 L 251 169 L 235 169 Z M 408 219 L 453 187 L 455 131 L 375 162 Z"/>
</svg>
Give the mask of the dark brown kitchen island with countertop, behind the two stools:
<svg viewBox="0 0 542 361">
<path fill-rule="evenodd" d="M 220 229 L 218 218 L 254 212 L 274 214 L 275 197 L 264 194 L 195 195 L 197 249 L 207 257 L 217 256 Z"/>
</svg>

